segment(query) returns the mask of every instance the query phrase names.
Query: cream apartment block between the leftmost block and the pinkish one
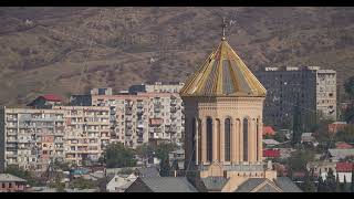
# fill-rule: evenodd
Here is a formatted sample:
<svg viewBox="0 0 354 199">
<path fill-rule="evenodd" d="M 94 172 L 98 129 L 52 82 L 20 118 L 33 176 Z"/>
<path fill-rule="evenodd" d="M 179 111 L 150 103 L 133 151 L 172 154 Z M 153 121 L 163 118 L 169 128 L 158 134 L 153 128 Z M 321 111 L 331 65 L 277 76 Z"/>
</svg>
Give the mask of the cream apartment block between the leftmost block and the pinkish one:
<svg viewBox="0 0 354 199">
<path fill-rule="evenodd" d="M 54 106 L 64 112 L 65 160 L 82 166 L 98 160 L 110 143 L 110 108 L 95 106 Z"/>
</svg>

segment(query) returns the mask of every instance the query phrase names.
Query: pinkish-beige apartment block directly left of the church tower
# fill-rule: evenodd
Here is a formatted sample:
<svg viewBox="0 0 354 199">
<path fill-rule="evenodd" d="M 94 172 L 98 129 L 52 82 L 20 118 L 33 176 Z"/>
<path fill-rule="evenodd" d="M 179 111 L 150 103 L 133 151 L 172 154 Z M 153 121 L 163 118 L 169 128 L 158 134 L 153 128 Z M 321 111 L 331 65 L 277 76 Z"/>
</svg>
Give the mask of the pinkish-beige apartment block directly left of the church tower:
<svg viewBox="0 0 354 199">
<path fill-rule="evenodd" d="M 92 95 L 93 106 L 111 109 L 112 142 L 136 146 L 156 140 L 180 143 L 184 107 L 177 93 Z"/>
</svg>

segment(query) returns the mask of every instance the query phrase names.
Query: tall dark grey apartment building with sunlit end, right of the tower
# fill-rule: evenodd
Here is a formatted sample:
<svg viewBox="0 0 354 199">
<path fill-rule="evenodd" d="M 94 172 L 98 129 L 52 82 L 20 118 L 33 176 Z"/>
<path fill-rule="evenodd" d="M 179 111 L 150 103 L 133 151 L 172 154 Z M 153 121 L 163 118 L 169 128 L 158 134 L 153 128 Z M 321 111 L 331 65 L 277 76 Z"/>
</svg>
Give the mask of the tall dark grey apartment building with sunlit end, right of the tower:
<svg viewBox="0 0 354 199">
<path fill-rule="evenodd" d="M 254 73 L 267 88 L 263 116 L 275 126 L 292 124 L 294 106 L 309 115 L 336 119 L 336 72 L 319 66 L 266 67 Z"/>
</svg>

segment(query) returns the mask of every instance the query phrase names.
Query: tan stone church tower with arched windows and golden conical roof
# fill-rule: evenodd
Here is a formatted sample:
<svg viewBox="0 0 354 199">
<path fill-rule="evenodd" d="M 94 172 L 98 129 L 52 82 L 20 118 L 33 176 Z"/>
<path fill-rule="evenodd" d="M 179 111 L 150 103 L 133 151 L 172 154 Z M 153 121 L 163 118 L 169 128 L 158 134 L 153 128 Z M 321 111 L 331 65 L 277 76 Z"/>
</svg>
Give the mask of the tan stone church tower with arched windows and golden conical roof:
<svg viewBox="0 0 354 199">
<path fill-rule="evenodd" d="M 186 81 L 180 96 L 187 170 L 197 170 L 205 179 L 227 179 L 223 191 L 232 191 L 250 178 L 277 178 L 262 161 L 266 88 L 225 35 Z"/>
</svg>

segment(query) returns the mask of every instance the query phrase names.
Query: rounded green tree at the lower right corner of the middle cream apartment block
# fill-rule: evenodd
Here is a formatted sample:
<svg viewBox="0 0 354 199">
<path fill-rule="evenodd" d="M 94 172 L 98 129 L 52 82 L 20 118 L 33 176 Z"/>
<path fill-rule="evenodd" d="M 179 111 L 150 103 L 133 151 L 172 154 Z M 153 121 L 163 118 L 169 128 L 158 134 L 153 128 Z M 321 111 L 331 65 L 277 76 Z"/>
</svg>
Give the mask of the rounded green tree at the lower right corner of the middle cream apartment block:
<svg viewBox="0 0 354 199">
<path fill-rule="evenodd" d="M 133 149 L 126 148 L 122 143 L 110 144 L 104 153 L 104 158 L 107 168 L 136 166 Z"/>
</svg>

